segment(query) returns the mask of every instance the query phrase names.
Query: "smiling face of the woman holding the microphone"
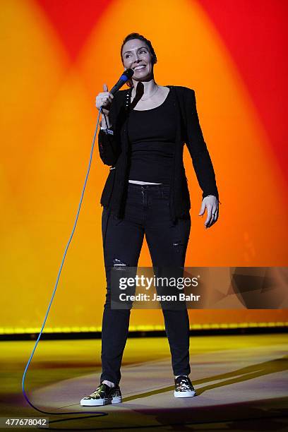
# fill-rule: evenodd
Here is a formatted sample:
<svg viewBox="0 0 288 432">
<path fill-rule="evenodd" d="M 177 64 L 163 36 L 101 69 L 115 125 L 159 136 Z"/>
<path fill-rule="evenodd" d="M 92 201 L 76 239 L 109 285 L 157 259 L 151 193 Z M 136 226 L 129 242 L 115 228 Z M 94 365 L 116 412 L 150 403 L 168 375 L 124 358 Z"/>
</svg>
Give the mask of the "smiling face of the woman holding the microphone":
<svg viewBox="0 0 288 432">
<path fill-rule="evenodd" d="M 150 54 L 147 44 L 145 44 L 143 40 L 128 40 L 122 48 L 122 59 L 125 70 L 128 68 L 133 69 L 133 80 L 148 81 L 152 78 L 152 55 Z"/>
</svg>

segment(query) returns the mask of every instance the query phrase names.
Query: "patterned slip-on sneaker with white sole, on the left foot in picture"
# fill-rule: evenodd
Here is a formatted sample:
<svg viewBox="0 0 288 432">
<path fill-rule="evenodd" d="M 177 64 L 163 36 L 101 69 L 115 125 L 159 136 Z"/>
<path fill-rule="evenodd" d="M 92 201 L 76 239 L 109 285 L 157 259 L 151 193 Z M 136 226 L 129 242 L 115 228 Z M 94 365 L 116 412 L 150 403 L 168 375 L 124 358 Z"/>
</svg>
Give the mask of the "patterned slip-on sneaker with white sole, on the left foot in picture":
<svg viewBox="0 0 288 432">
<path fill-rule="evenodd" d="M 119 385 L 109 387 L 107 384 L 100 384 L 90 396 L 83 397 L 80 405 L 95 407 L 97 405 L 119 404 L 122 402 L 122 395 Z"/>
</svg>

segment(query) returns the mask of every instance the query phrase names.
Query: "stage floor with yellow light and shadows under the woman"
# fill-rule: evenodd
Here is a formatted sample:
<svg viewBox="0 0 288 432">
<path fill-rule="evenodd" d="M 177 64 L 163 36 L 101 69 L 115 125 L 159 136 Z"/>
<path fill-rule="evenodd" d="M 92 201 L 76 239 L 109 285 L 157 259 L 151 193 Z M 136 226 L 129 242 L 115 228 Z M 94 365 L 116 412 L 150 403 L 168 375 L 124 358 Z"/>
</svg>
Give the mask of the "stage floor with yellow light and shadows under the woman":
<svg viewBox="0 0 288 432">
<path fill-rule="evenodd" d="M 124 402 L 80 407 L 100 378 L 100 340 L 1 343 L 2 417 L 49 417 L 51 429 L 159 431 L 284 431 L 287 415 L 285 334 L 191 337 L 191 375 L 197 396 L 174 398 L 166 338 L 130 338 L 121 369 Z M 78 414 L 63 415 L 68 412 Z M 85 412 L 107 414 L 94 416 Z"/>
</svg>

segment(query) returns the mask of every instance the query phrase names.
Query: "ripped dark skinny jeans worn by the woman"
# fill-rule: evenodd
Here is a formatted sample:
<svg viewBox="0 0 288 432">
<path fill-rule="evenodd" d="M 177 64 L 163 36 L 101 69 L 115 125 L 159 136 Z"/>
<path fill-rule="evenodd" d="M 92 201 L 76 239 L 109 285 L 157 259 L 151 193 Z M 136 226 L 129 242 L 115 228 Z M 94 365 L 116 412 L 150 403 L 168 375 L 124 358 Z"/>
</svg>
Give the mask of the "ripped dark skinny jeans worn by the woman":
<svg viewBox="0 0 288 432">
<path fill-rule="evenodd" d="M 102 212 L 102 239 L 107 280 L 102 319 L 102 375 L 116 385 L 121 379 L 121 361 L 128 337 L 129 309 L 112 309 L 111 268 L 114 265 L 138 266 L 144 234 L 153 266 L 184 267 L 191 229 L 190 215 L 174 224 L 169 215 L 169 185 L 128 184 L 124 218 Z M 164 310 L 164 325 L 172 354 L 174 375 L 188 375 L 189 318 L 184 310 Z"/>
</svg>

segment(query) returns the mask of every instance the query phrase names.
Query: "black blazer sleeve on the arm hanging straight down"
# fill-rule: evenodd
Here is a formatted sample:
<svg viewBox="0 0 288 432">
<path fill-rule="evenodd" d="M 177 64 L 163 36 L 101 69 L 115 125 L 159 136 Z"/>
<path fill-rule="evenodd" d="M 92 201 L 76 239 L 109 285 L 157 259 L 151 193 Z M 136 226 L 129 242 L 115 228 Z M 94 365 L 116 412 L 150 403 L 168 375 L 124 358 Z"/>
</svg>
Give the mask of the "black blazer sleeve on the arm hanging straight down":
<svg viewBox="0 0 288 432">
<path fill-rule="evenodd" d="M 192 158 L 198 184 L 203 191 L 202 199 L 205 196 L 214 195 L 219 201 L 215 172 L 198 118 L 195 91 L 190 88 L 187 90 L 185 98 L 186 145 Z"/>
</svg>

